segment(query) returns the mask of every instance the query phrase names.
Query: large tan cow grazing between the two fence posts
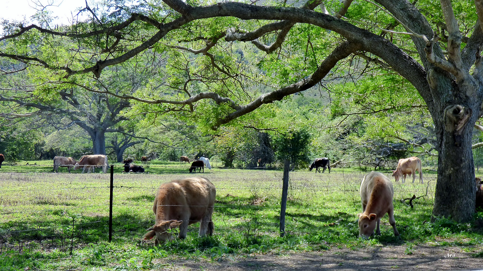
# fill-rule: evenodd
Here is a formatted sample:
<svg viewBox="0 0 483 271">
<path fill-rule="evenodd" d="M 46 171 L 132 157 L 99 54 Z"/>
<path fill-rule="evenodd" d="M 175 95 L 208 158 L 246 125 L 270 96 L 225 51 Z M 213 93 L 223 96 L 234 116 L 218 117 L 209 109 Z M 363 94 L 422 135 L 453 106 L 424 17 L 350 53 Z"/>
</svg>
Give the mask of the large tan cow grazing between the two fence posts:
<svg viewBox="0 0 483 271">
<path fill-rule="evenodd" d="M 180 227 L 179 238 L 186 238 L 188 225 L 199 221 L 199 234 L 213 234 L 214 185 L 205 178 L 195 177 L 162 184 L 156 193 L 153 212 L 155 226 L 148 228 L 144 240 L 156 236 L 155 245 L 171 239 L 170 228 Z"/>
</svg>

